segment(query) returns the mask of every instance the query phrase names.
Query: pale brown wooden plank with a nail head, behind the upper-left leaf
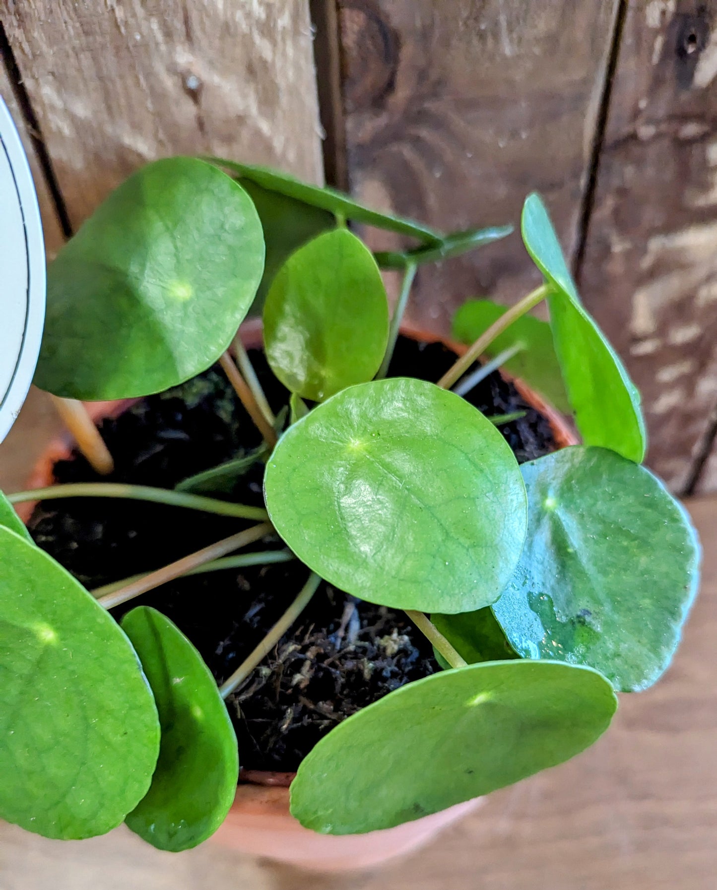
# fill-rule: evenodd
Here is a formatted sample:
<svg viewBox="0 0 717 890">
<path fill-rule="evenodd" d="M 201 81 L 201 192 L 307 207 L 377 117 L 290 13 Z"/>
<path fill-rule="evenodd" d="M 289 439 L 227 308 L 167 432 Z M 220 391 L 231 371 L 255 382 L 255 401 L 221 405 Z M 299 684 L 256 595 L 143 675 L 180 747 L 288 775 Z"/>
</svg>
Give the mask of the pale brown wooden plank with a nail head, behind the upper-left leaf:
<svg viewBox="0 0 717 890">
<path fill-rule="evenodd" d="M 305 0 L 5 0 L 0 16 L 73 227 L 164 155 L 321 181 Z"/>
</svg>

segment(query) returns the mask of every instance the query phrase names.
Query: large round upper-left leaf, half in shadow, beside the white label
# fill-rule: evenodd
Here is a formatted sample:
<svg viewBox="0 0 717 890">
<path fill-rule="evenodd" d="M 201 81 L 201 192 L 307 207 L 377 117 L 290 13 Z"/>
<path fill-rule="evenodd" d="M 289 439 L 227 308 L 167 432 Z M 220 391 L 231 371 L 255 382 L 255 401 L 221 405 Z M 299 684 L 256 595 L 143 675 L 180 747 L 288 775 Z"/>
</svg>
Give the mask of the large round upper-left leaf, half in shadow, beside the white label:
<svg viewBox="0 0 717 890">
<path fill-rule="evenodd" d="M 257 211 L 231 177 L 195 158 L 143 167 L 48 269 L 36 384 L 93 400 L 182 383 L 231 343 L 263 268 Z"/>
</svg>

